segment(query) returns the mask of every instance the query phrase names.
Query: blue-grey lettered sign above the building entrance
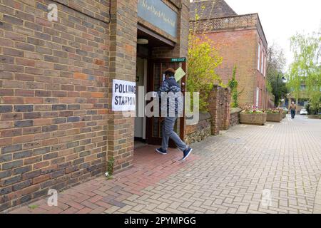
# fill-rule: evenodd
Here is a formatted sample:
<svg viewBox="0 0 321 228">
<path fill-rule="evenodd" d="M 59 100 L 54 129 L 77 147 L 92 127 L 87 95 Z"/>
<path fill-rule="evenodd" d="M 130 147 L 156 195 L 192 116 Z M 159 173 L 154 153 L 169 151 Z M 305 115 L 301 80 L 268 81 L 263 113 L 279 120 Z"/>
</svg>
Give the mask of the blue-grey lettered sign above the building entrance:
<svg viewBox="0 0 321 228">
<path fill-rule="evenodd" d="M 161 0 L 138 0 L 138 16 L 176 38 L 177 14 Z"/>
</svg>

